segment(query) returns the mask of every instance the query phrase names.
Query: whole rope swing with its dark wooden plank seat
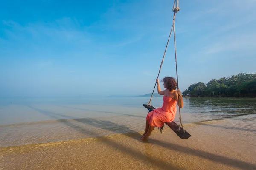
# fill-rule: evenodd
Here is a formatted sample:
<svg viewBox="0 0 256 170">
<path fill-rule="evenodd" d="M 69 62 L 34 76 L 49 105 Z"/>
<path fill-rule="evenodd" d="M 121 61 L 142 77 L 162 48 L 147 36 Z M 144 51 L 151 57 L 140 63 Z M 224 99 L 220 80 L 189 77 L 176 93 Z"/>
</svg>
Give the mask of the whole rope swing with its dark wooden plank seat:
<svg viewBox="0 0 256 170">
<path fill-rule="evenodd" d="M 176 6 L 175 6 L 175 3 L 176 3 Z M 167 41 L 166 49 L 165 49 L 164 54 L 163 54 L 163 59 L 164 59 L 165 54 L 166 54 L 166 50 L 167 50 L 167 47 L 168 47 L 168 44 L 169 44 L 169 40 L 170 40 L 170 37 L 171 37 L 171 34 L 172 34 L 172 30 L 173 30 L 174 49 L 175 49 L 175 62 L 176 62 L 176 76 L 177 76 L 177 88 L 179 88 L 179 81 L 178 81 L 178 70 L 177 70 L 176 40 L 175 40 L 175 16 L 176 16 L 176 13 L 178 11 L 180 11 L 180 8 L 178 6 L 179 6 L 179 0 L 174 0 L 174 5 L 173 5 L 173 8 L 172 8 L 172 11 L 174 12 L 173 21 L 172 21 L 172 29 L 171 29 L 171 32 L 170 32 L 170 35 L 169 35 L 169 38 L 168 38 L 168 41 Z M 159 74 L 160 74 L 160 71 L 161 71 L 161 68 L 162 68 L 162 65 L 163 65 L 163 59 L 162 59 L 161 65 L 160 65 L 160 69 L 159 69 L 159 72 L 158 72 L 158 75 L 157 75 L 157 79 L 159 77 Z M 155 82 L 154 89 L 155 89 L 156 85 L 157 85 L 157 82 Z M 151 111 L 153 111 L 155 109 L 151 105 L 151 100 L 152 100 L 152 96 L 154 94 L 154 89 L 153 89 L 153 92 L 151 94 L 151 98 L 150 98 L 148 104 L 147 105 L 143 104 L 143 106 L 148 109 L 148 112 L 151 112 Z M 180 101 L 180 96 L 178 96 L 178 98 L 179 98 L 179 101 Z M 180 113 L 180 106 L 179 106 L 179 113 Z M 182 122 L 181 122 L 181 114 L 180 114 L 180 125 L 177 125 L 177 123 L 175 123 L 174 121 L 166 122 L 165 124 L 167 126 L 169 126 L 177 134 L 177 136 L 179 136 L 181 139 L 188 139 L 191 136 L 183 128 L 183 125 L 182 125 Z M 160 132 L 162 133 L 163 127 L 160 127 L 159 129 L 160 129 Z"/>
</svg>

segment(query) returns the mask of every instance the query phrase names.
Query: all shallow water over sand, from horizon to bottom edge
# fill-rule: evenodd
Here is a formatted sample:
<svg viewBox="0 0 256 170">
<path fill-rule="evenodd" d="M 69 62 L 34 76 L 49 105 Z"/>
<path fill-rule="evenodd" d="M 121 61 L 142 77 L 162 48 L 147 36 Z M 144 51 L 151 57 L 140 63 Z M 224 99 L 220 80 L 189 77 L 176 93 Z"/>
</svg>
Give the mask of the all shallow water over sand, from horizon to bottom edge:
<svg viewBox="0 0 256 170">
<path fill-rule="evenodd" d="M 141 141 L 148 101 L 2 99 L 0 169 L 256 169 L 256 99 L 184 98 L 182 121 L 192 136 L 180 139 L 165 126 Z"/>
</svg>

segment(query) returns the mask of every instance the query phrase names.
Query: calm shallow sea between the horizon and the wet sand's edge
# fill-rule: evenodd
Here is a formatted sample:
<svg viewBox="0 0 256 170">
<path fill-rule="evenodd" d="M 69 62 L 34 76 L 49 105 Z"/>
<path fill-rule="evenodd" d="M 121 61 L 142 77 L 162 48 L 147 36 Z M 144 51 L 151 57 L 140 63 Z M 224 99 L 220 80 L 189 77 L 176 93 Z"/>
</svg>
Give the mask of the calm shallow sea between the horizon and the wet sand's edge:
<svg viewBox="0 0 256 170">
<path fill-rule="evenodd" d="M 161 107 L 162 100 L 154 97 L 152 105 Z M 147 109 L 142 104 L 148 101 L 148 97 L 2 99 L 0 147 L 143 131 Z M 219 119 L 254 122 L 256 99 L 184 98 L 181 115 L 184 126 Z M 175 122 L 179 123 L 179 111 Z M 256 130 L 247 124 L 239 128 Z"/>
</svg>

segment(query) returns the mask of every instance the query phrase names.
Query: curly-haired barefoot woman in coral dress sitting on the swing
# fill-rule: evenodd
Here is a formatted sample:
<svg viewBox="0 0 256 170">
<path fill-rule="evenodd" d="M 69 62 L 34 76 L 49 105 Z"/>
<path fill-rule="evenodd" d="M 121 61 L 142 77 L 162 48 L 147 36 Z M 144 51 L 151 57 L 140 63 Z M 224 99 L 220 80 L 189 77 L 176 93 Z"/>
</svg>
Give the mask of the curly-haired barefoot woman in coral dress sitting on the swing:
<svg viewBox="0 0 256 170">
<path fill-rule="evenodd" d="M 163 87 L 166 88 L 163 91 L 161 91 L 159 80 L 156 79 L 156 81 L 158 94 L 163 95 L 163 106 L 148 113 L 145 133 L 140 138 L 142 140 L 147 140 L 155 127 L 163 127 L 165 122 L 173 121 L 177 112 L 177 103 L 180 108 L 183 108 L 184 105 L 180 90 L 175 90 L 177 88 L 177 82 L 173 77 L 165 77 L 162 79 Z M 178 96 L 180 96 L 180 101 Z"/>
</svg>

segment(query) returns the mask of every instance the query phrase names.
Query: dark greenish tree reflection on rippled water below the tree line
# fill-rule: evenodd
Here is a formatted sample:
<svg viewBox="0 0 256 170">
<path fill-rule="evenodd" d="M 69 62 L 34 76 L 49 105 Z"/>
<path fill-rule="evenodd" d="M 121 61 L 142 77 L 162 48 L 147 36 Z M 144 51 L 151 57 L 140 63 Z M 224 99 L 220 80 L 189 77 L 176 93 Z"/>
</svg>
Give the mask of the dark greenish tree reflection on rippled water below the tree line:
<svg viewBox="0 0 256 170">
<path fill-rule="evenodd" d="M 256 99 L 186 98 L 185 109 L 198 118 L 227 119 L 256 114 Z"/>
</svg>

